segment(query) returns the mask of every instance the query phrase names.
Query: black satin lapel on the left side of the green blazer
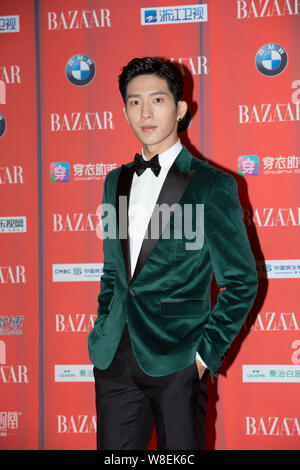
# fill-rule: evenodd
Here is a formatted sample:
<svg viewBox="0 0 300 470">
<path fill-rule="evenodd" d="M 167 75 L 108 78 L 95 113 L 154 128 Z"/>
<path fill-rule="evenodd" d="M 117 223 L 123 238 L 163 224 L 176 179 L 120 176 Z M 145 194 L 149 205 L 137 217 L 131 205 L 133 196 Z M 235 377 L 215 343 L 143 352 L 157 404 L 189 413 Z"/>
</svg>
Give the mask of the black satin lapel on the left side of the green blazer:
<svg viewBox="0 0 300 470">
<path fill-rule="evenodd" d="M 131 167 L 124 165 L 122 166 L 116 193 L 118 237 L 121 243 L 128 282 L 131 278 L 130 245 L 128 237 L 128 209 L 133 175 L 134 171 L 131 169 Z"/>
</svg>

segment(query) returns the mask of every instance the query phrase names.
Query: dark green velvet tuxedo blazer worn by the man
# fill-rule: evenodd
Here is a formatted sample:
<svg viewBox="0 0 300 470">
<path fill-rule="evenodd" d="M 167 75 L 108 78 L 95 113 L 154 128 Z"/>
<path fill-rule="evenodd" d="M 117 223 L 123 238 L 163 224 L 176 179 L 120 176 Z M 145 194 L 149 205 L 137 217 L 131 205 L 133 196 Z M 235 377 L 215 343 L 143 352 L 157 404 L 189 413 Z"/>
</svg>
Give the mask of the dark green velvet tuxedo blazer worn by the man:
<svg viewBox="0 0 300 470">
<path fill-rule="evenodd" d="M 115 208 L 115 217 L 109 220 L 116 224 L 116 236 L 103 214 L 104 266 L 98 316 L 88 337 L 90 360 L 99 369 L 109 367 L 127 322 L 134 354 L 146 374 L 163 376 L 188 367 L 197 351 L 210 373 L 217 375 L 257 292 L 237 184 L 231 175 L 183 147 L 156 204 L 177 207 L 182 214 L 189 205 L 192 210 L 186 217 L 194 225 L 196 207 L 202 207 L 203 223 L 195 228 L 202 230 L 201 246 L 187 248 L 190 235 L 182 230 L 178 236 L 178 219 L 170 211 L 160 222 L 158 235 L 145 236 L 131 276 L 126 222 L 132 165 L 112 170 L 104 182 L 103 204 Z M 213 273 L 221 290 L 212 309 Z"/>
</svg>

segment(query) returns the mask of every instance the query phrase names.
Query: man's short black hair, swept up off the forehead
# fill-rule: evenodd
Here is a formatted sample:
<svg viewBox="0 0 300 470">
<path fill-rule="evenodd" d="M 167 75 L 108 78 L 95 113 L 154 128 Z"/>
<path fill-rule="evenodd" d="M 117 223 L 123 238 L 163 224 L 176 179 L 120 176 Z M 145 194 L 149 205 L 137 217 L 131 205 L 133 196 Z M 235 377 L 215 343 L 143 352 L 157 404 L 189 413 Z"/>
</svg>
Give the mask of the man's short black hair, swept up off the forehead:
<svg viewBox="0 0 300 470">
<path fill-rule="evenodd" d="M 171 62 L 163 61 L 157 57 L 143 57 L 132 59 L 122 69 L 119 75 L 119 89 L 126 104 L 128 83 L 139 75 L 156 75 L 167 81 L 175 104 L 182 100 L 183 78 L 177 67 Z M 185 131 L 190 123 L 191 114 L 188 110 L 184 118 L 178 123 L 178 132 Z"/>
</svg>

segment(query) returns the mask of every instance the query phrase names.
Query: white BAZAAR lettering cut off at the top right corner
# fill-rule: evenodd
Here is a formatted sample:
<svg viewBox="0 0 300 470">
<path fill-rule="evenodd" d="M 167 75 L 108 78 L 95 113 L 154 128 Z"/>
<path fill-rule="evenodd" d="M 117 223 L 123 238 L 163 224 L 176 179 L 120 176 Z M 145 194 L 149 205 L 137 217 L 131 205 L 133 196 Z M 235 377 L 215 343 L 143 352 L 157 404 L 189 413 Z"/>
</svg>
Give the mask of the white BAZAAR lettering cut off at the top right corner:
<svg viewBox="0 0 300 470">
<path fill-rule="evenodd" d="M 237 0 L 237 18 L 298 15 L 298 0 Z"/>
</svg>

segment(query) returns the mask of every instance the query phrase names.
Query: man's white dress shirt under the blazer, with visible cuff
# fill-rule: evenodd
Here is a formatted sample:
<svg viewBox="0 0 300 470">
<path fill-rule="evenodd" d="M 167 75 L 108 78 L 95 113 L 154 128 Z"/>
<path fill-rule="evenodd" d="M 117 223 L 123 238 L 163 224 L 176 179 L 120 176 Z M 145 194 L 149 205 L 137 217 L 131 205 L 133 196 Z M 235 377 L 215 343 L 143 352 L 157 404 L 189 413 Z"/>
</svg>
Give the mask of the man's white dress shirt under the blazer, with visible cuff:
<svg viewBox="0 0 300 470">
<path fill-rule="evenodd" d="M 178 139 L 175 145 L 158 156 L 161 166 L 158 176 L 155 176 L 151 168 L 146 168 L 140 176 L 136 173 L 133 175 L 128 212 L 131 275 L 134 273 L 143 239 L 158 195 L 167 173 L 174 163 L 174 160 L 179 155 L 181 149 L 182 145 Z M 144 156 L 144 152 L 142 152 L 142 157 L 147 160 Z M 196 357 L 206 367 L 198 353 L 196 354 Z"/>
</svg>

